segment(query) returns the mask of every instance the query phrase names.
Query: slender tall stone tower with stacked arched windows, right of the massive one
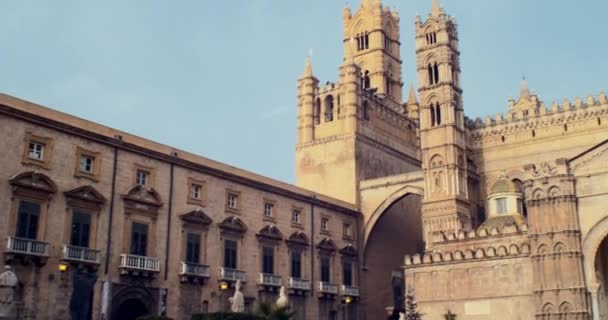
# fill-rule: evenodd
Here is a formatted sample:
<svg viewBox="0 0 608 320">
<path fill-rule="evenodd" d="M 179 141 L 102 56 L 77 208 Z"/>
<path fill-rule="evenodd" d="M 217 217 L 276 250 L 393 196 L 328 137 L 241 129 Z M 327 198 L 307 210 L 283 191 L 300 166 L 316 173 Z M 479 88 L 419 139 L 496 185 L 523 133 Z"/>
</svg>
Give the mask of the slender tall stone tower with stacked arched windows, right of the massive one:
<svg viewBox="0 0 608 320">
<path fill-rule="evenodd" d="M 437 0 L 428 19 L 416 18 L 420 96 L 420 145 L 425 177 L 422 207 L 425 241 L 435 231 L 471 228 L 467 190 L 458 33 Z"/>
</svg>

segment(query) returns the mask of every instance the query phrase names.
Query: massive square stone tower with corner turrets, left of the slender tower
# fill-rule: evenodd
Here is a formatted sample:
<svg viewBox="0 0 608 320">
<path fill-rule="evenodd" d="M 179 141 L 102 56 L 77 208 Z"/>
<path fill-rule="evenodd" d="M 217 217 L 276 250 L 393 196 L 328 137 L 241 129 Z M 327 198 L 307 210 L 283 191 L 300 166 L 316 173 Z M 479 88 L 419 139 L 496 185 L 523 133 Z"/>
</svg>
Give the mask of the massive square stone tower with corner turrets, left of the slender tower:
<svg viewBox="0 0 608 320">
<path fill-rule="evenodd" d="M 320 87 L 298 81 L 296 184 L 359 203 L 359 181 L 419 170 L 418 122 L 402 102 L 399 16 L 379 0 L 343 12 L 344 62 Z"/>
</svg>

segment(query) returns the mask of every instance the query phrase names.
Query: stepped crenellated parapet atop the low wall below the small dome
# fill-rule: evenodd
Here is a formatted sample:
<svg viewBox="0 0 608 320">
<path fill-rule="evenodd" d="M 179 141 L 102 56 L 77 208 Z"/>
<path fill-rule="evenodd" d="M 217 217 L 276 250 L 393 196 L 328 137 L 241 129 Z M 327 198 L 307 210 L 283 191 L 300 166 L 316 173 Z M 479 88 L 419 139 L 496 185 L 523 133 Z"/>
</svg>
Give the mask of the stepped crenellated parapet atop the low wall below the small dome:
<svg viewBox="0 0 608 320">
<path fill-rule="evenodd" d="M 405 266 L 431 265 L 454 263 L 454 261 L 470 261 L 495 259 L 499 257 L 525 257 L 530 255 L 530 244 L 522 240 L 521 235 L 528 231 L 527 225 L 521 227 L 505 226 L 498 228 L 480 229 L 469 232 L 445 234 L 435 232 L 433 242 L 438 248 L 425 254 L 406 255 Z M 501 239 L 498 239 L 501 238 Z M 487 241 L 483 241 L 487 240 Z M 497 243 L 498 242 L 498 243 Z"/>
</svg>

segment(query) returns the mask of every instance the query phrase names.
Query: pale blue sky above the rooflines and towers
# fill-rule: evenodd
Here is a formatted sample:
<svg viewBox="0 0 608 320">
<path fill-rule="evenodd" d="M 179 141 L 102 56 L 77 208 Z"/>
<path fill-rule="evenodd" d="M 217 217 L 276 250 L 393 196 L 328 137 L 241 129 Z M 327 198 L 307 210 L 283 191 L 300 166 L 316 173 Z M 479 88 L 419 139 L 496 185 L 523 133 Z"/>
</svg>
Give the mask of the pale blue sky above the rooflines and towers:
<svg viewBox="0 0 608 320">
<path fill-rule="evenodd" d="M 401 17 L 404 91 L 413 25 Z M 469 117 L 504 112 L 523 73 L 543 100 L 608 89 L 608 2 L 444 0 L 459 24 Z M 0 91 L 286 182 L 294 181 L 296 80 L 334 81 L 336 0 L 0 2 Z M 358 8 L 359 1 L 350 1 Z"/>
</svg>

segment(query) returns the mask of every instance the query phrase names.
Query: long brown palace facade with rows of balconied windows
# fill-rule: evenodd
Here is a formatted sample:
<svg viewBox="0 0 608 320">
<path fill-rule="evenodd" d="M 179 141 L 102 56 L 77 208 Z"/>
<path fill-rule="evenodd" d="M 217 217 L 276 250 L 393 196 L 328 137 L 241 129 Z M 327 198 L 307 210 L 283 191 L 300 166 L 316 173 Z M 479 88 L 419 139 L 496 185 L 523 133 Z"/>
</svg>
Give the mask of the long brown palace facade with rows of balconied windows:
<svg viewBox="0 0 608 320">
<path fill-rule="evenodd" d="M 0 268 L 18 275 L 20 318 L 185 320 L 226 309 L 241 277 L 220 274 L 226 239 L 236 242 L 247 308 L 276 300 L 284 285 L 297 319 L 341 316 L 345 295 L 356 313 L 361 219 L 352 204 L 6 95 L 0 135 Z M 39 208 L 36 218 L 24 203 Z M 76 213 L 88 219 L 85 243 Z M 144 240 L 134 231 L 141 225 Z M 188 245 L 193 236 L 198 246 Z M 142 241 L 144 256 L 132 255 Z M 273 258 L 262 278 L 264 248 Z M 193 250 L 197 263 L 187 265 Z M 301 253 L 298 277 L 293 252 Z M 321 256 L 330 263 L 323 291 Z M 352 261 L 349 282 L 344 261 Z"/>
</svg>

